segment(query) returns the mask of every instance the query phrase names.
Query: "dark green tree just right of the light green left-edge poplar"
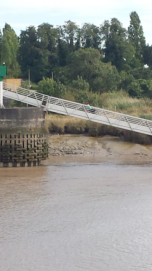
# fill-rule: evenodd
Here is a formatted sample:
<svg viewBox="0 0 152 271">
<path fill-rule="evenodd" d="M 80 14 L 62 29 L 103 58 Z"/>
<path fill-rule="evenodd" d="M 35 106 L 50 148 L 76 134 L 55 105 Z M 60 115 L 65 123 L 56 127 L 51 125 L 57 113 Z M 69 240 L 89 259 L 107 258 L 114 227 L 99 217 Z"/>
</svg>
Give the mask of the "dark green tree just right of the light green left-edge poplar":
<svg viewBox="0 0 152 271">
<path fill-rule="evenodd" d="M 19 47 L 19 64 L 24 78 L 28 78 L 28 69 L 32 82 L 39 82 L 43 76 L 49 75 L 47 49 L 48 41 L 41 41 L 34 26 L 21 31 Z"/>
</svg>

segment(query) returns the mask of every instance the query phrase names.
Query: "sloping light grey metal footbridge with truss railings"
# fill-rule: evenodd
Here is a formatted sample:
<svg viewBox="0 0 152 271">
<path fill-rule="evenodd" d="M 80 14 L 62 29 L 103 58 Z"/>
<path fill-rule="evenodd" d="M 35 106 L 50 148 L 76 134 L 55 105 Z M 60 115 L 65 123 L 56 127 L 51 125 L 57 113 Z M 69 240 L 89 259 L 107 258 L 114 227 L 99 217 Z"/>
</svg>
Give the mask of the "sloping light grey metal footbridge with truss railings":
<svg viewBox="0 0 152 271">
<path fill-rule="evenodd" d="M 51 111 L 62 115 L 81 118 L 101 124 L 110 125 L 125 130 L 152 135 L 152 121 L 121 114 L 106 109 L 55 98 L 35 91 L 13 86 L 3 82 L 3 96 L 23 102 L 34 107 L 43 107 L 44 111 Z"/>
</svg>

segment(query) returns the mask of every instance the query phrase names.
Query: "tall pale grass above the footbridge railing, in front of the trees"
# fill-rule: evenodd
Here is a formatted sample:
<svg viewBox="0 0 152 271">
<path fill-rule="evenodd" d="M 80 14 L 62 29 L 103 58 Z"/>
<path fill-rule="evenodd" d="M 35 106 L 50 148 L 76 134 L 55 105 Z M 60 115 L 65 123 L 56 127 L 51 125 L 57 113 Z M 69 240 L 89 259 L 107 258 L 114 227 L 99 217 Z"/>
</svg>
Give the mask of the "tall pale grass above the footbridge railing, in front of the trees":
<svg viewBox="0 0 152 271">
<path fill-rule="evenodd" d="M 77 90 L 78 91 L 78 90 Z M 72 91 L 68 89 L 65 91 L 64 99 L 69 101 L 81 102 L 80 100 L 82 93 L 77 93 L 77 91 Z M 128 95 L 123 90 L 114 92 L 105 92 L 96 94 L 90 91 L 85 91 L 85 97 L 90 101 L 90 104 L 95 107 L 104 108 L 110 111 L 116 111 L 128 115 L 133 115 L 136 117 L 152 119 L 152 100 L 148 98 L 133 98 Z M 84 99 L 84 103 L 87 102 Z"/>
</svg>

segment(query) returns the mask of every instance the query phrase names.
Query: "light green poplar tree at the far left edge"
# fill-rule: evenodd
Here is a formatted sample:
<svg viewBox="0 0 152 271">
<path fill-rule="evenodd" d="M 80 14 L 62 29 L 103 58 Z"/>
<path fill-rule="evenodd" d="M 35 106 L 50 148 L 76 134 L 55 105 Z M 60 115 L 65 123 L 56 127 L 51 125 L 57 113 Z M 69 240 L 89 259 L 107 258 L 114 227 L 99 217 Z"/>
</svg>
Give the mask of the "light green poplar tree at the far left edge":
<svg viewBox="0 0 152 271">
<path fill-rule="evenodd" d="M 18 48 L 19 42 L 15 31 L 9 24 L 5 24 L 1 38 L 1 62 L 6 62 L 7 75 L 10 77 L 20 75 L 20 67 L 17 62 Z"/>
</svg>

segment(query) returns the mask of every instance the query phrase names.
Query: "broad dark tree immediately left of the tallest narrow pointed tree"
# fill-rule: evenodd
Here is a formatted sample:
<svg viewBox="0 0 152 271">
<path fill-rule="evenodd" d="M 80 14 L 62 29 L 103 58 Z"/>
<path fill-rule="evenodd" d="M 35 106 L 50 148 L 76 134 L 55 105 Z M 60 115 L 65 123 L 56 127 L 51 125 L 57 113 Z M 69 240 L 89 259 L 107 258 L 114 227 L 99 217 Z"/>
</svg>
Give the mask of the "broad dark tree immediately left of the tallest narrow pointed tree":
<svg viewBox="0 0 152 271">
<path fill-rule="evenodd" d="M 101 26 L 102 40 L 104 41 L 104 62 L 111 62 L 118 71 L 128 70 L 133 59 L 135 49 L 127 38 L 126 30 L 122 24 L 113 18 L 111 22 L 105 21 Z"/>
</svg>

